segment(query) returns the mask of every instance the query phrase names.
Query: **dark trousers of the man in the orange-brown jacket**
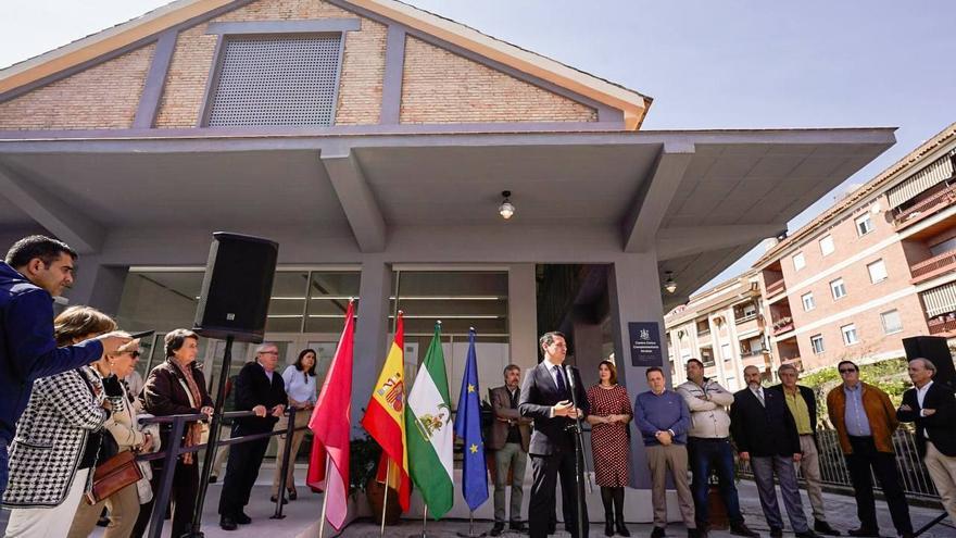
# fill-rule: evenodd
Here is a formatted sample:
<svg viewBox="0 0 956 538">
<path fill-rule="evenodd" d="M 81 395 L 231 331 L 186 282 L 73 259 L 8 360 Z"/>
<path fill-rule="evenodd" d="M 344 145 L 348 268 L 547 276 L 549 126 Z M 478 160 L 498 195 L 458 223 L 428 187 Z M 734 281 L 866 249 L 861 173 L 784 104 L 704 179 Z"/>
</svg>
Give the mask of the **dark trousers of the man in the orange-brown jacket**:
<svg viewBox="0 0 956 538">
<path fill-rule="evenodd" d="M 896 455 L 878 452 L 872 437 L 850 436 L 850 446 L 853 453 L 846 455 L 846 467 L 850 470 L 850 479 L 853 481 L 853 493 L 856 496 L 856 515 L 860 526 L 877 529 L 877 504 L 873 500 L 873 480 L 870 470 L 877 475 L 877 481 L 886 498 L 890 506 L 890 516 L 897 533 L 913 533 L 913 523 L 909 521 L 909 506 L 906 504 L 906 496 L 900 485 L 900 474 L 896 471 Z"/>
</svg>

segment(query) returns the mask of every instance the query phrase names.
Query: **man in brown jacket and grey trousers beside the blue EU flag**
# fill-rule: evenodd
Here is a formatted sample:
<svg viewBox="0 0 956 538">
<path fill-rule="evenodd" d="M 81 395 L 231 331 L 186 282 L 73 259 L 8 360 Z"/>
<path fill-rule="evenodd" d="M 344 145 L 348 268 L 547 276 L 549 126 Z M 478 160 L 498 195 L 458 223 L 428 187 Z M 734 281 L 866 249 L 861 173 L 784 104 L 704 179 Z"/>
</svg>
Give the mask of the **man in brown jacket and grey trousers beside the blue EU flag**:
<svg viewBox="0 0 956 538">
<path fill-rule="evenodd" d="M 518 412 L 518 396 L 521 386 L 521 368 L 508 364 L 504 368 L 504 386 L 489 389 L 494 422 L 488 436 L 488 448 L 494 451 L 494 526 L 491 536 L 504 530 L 504 488 L 508 467 L 512 471 L 512 502 L 510 521 L 512 530 L 525 531 L 521 522 L 521 499 L 524 497 L 525 465 L 528 462 L 528 441 L 531 438 L 531 420 L 521 417 Z"/>
</svg>

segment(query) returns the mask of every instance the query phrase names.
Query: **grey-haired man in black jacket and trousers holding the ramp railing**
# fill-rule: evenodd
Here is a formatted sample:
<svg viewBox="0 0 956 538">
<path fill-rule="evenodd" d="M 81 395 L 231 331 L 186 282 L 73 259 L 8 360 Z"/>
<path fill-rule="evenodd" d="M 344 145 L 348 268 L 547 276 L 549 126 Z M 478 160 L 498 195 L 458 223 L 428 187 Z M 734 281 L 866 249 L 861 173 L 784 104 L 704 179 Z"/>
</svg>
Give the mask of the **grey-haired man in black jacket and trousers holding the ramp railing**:
<svg viewBox="0 0 956 538">
<path fill-rule="evenodd" d="M 255 350 L 255 361 L 242 366 L 236 376 L 232 387 L 236 411 L 252 411 L 255 415 L 235 421 L 234 439 L 272 431 L 282 416 L 288 398 L 282 376 L 276 373 L 278 363 L 279 349 L 275 343 L 265 342 Z M 219 497 L 219 526 L 223 529 L 236 530 L 237 524 L 252 523 L 243 509 L 249 504 L 249 495 L 259 476 L 269 439 L 265 437 L 230 447 L 223 495 Z"/>
</svg>

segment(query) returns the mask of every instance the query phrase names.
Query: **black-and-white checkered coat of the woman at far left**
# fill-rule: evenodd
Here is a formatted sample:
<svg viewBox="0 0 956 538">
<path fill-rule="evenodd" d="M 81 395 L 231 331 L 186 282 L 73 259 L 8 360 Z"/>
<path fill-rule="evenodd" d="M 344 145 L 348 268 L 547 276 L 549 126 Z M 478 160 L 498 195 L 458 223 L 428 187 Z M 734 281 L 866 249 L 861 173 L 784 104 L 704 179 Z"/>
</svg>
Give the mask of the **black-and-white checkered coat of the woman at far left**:
<svg viewBox="0 0 956 538">
<path fill-rule="evenodd" d="M 93 385 L 96 395 L 80 376 Z M 87 368 L 34 381 L 10 445 L 10 481 L 3 506 L 52 508 L 63 502 L 89 433 L 103 427 L 110 416 L 101 406 L 103 397 L 102 381 Z"/>
</svg>

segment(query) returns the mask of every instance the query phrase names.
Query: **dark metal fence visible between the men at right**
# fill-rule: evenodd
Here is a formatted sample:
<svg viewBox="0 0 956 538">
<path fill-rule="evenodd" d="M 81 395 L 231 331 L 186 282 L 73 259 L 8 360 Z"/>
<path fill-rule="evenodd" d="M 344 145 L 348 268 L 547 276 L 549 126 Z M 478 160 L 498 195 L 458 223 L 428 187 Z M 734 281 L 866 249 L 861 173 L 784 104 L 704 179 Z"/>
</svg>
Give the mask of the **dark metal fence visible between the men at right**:
<svg viewBox="0 0 956 538">
<path fill-rule="evenodd" d="M 819 450 L 821 483 L 830 486 L 853 487 L 836 430 L 818 429 L 817 448 Z M 893 449 L 896 451 L 896 470 L 900 473 L 903 491 L 907 496 L 939 500 L 940 493 L 916 450 L 914 434 L 907 428 L 897 429 L 893 434 Z M 753 477 L 749 462 L 738 461 L 737 472 L 740 476 Z M 801 477 L 803 477 L 802 474 Z M 873 489 L 881 491 L 876 475 L 872 476 L 872 484 Z"/>
</svg>

